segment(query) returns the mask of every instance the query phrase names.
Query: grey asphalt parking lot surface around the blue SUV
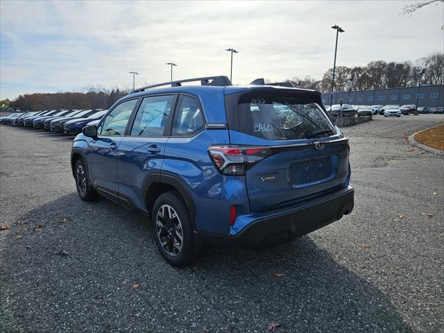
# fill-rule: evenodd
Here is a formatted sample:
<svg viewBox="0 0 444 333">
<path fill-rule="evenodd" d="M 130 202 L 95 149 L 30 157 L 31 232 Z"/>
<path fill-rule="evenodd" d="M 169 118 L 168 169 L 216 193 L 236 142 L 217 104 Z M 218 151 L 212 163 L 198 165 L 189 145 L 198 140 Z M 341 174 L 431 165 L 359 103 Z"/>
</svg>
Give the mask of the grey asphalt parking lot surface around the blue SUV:
<svg viewBox="0 0 444 333">
<path fill-rule="evenodd" d="M 352 214 L 185 269 L 144 216 L 78 198 L 72 137 L 0 126 L 0 332 L 443 332 L 443 157 L 406 139 L 443 121 L 345 128 Z"/>
</svg>

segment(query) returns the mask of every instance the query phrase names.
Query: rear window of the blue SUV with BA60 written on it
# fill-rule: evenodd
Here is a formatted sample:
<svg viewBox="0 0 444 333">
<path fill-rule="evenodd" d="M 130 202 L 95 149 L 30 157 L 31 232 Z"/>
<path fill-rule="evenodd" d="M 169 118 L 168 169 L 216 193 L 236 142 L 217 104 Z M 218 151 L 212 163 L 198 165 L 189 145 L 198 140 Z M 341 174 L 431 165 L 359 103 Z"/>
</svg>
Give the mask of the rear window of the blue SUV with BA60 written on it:
<svg viewBox="0 0 444 333">
<path fill-rule="evenodd" d="M 239 130 L 262 139 L 306 139 L 334 133 L 318 103 L 306 99 L 245 94 L 239 98 L 237 111 Z"/>
</svg>

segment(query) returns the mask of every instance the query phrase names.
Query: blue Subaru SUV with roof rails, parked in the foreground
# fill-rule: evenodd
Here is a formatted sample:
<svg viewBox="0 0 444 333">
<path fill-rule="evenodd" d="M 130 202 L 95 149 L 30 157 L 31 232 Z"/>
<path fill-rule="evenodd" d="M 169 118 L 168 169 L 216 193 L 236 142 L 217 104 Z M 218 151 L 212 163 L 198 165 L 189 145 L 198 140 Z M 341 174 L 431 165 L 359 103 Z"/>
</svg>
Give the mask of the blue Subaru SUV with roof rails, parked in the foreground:
<svg viewBox="0 0 444 333">
<path fill-rule="evenodd" d="M 187 266 L 204 244 L 264 248 L 349 214 L 349 151 L 319 92 L 214 76 L 123 97 L 74 139 L 71 166 L 81 199 L 148 214 L 160 253 Z"/>
</svg>

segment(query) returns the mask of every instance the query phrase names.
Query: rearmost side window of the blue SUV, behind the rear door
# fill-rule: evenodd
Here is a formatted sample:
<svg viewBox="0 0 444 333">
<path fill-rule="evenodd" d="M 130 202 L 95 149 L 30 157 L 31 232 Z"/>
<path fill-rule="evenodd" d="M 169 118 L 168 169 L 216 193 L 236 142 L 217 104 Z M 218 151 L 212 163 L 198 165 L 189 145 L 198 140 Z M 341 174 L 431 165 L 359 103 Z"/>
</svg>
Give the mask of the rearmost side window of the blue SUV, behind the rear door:
<svg viewBox="0 0 444 333">
<path fill-rule="evenodd" d="M 181 95 L 173 121 L 173 135 L 191 136 L 203 128 L 203 114 L 196 99 Z"/>
</svg>

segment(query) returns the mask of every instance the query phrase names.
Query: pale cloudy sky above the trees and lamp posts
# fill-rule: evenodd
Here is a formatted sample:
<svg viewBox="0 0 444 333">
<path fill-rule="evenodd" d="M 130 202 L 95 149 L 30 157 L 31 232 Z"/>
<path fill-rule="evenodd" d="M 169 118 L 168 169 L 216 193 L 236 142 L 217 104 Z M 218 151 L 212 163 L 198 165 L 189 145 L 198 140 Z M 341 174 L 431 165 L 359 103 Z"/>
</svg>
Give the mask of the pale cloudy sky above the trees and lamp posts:
<svg viewBox="0 0 444 333">
<path fill-rule="evenodd" d="M 87 85 L 131 86 L 230 75 L 233 82 L 321 79 L 333 65 L 416 60 L 443 52 L 443 3 L 409 1 L 0 1 L 0 99 Z"/>
</svg>

